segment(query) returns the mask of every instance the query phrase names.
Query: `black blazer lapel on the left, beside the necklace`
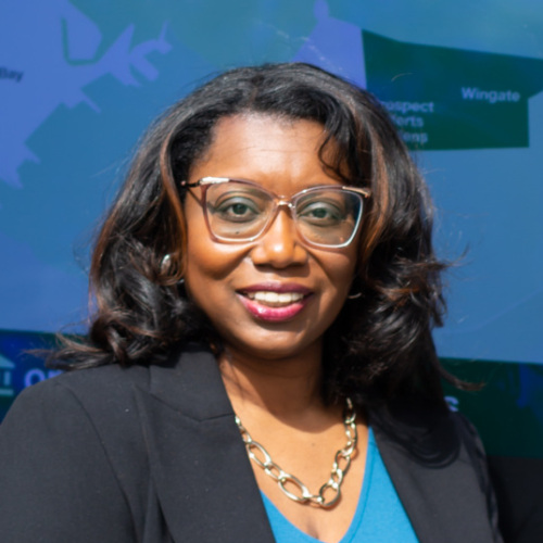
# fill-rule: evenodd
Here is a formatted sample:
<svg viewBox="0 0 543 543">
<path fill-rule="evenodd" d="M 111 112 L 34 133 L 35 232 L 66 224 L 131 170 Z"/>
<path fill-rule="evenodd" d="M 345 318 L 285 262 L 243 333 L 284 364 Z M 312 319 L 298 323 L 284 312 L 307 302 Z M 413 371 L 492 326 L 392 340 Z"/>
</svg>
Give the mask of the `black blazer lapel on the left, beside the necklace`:
<svg viewBox="0 0 543 543">
<path fill-rule="evenodd" d="M 174 541 L 273 543 L 274 536 L 217 364 L 185 351 L 150 368 L 137 401 L 151 478 Z"/>
</svg>

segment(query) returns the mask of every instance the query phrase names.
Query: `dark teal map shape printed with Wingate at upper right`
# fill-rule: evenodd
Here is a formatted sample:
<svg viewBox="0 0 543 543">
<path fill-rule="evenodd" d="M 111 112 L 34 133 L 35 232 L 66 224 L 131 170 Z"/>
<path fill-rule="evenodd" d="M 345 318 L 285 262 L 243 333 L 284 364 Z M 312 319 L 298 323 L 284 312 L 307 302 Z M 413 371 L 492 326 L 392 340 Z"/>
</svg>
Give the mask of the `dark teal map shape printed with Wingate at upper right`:
<svg viewBox="0 0 543 543">
<path fill-rule="evenodd" d="M 363 31 L 366 80 L 411 149 L 529 147 L 543 60 L 420 46 Z"/>
</svg>

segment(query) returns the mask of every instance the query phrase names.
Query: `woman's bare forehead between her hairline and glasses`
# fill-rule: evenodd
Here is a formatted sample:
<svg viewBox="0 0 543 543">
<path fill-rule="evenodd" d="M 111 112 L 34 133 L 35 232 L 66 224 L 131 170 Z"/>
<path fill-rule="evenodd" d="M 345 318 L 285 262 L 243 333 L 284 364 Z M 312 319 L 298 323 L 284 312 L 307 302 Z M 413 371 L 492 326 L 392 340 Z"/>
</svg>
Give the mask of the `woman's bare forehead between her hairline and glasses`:
<svg viewBox="0 0 543 543">
<path fill-rule="evenodd" d="M 283 193 L 336 184 L 339 179 L 319 157 L 325 139 L 324 126 L 312 121 L 254 113 L 226 117 L 215 126 L 212 142 L 193 165 L 190 180 L 241 178 Z M 332 151 L 333 143 L 327 144 L 325 161 Z"/>
</svg>

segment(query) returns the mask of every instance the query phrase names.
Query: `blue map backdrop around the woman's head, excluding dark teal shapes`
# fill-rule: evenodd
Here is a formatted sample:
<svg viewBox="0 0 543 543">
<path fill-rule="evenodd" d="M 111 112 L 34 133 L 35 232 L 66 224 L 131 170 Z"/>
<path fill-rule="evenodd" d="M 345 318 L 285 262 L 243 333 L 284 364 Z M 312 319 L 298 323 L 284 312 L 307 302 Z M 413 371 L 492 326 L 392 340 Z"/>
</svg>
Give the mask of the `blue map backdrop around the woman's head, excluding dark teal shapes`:
<svg viewBox="0 0 543 543">
<path fill-rule="evenodd" d="M 446 326 L 435 332 L 440 355 L 543 363 L 543 10 L 535 0 L 4 0 L 0 330 L 85 329 L 89 240 L 139 136 L 167 105 L 225 68 L 292 60 L 378 96 L 394 92 L 371 87 L 396 70 L 376 56 L 371 36 L 402 51 L 427 47 L 405 55 L 409 100 L 418 92 L 428 101 L 424 89 L 438 78 L 431 62 L 442 50 L 452 59 L 431 97 L 438 109 L 449 104 L 449 117 L 427 118 L 437 128 L 414 150 L 435 201 L 439 252 L 455 263 Z M 521 104 L 469 110 L 467 129 L 490 115 L 505 134 L 498 143 L 483 138 L 463 149 L 458 136 L 432 148 L 439 134 L 454 139 L 446 123 L 464 110 L 446 89 L 454 97 L 469 84 L 459 79 L 470 63 L 480 66 L 481 89 L 503 81 L 498 90 L 518 91 Z"/>
</svg>

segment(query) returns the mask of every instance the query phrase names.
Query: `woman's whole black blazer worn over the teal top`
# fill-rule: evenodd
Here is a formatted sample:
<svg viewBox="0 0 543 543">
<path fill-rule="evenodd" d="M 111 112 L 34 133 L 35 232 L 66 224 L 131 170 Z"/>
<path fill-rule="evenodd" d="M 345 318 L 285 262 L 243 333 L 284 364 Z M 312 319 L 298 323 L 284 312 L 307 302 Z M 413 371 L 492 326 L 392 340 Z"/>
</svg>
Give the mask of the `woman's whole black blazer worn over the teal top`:
<svg viewBox="0 0 543 543">
<path fill-rule="evenodd" d="M 500 542 L 485 458 L 458 415 L 370 414 L 422 543 Z M 0 427 L 4 543 L 273 543 L 217 364 L 73 371 L 25 390 Z"/>
</svg>

